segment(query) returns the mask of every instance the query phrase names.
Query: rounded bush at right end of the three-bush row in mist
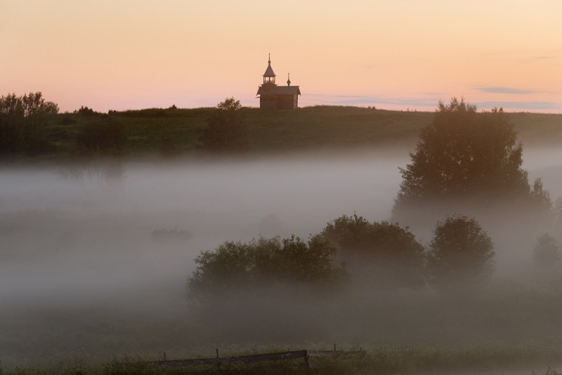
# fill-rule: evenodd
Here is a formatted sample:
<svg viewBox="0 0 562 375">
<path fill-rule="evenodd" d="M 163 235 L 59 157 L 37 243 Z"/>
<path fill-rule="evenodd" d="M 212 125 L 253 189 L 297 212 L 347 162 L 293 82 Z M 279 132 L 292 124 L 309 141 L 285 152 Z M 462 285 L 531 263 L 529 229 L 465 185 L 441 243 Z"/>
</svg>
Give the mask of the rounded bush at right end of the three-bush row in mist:
<svg viewBox="0 0 562 375">
<path fill-rule="evenodd" d="M 494 266 L 494 244 L 474 218 L 450 216 L 438 222 L 429 244 L 427 268 L 433 286 L 485 279 Z"/>
</svg>

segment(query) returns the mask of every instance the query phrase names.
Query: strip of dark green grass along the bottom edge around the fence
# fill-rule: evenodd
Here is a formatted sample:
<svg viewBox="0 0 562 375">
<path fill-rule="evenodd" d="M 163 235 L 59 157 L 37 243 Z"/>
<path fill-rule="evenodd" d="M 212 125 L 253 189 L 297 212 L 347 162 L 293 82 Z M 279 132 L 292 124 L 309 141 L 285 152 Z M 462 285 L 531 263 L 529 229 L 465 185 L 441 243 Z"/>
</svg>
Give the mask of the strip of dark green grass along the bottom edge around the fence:
<svg viewBox="0 0 562 375">
<path fill-rule="evenodd" d="M 275 351 L 275 350 L 273 350 Z M 263 364 L 223 364 L 200 367 L 155 367 L 140 357 L 123 357 L 100 364 L 76 360 L 49 369 L 1 369 L 0 374 L 561 374 L 562 350 L 537 346 L 473 348 L 379 347 L 365 357 L 311 358 Z"/>
</svg>

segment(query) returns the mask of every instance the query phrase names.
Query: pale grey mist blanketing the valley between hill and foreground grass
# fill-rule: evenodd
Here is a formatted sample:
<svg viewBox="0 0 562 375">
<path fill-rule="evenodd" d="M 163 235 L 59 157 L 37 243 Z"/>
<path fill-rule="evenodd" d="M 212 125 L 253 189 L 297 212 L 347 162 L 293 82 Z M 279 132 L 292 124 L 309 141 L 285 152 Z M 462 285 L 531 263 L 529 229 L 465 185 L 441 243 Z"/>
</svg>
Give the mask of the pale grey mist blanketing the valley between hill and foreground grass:
<svg viewBox="0 0 562 375">
<path fill-rule="evenodd" d="M 221 310 L 190 309 L 186 279 L 202 250 L 260 235 L 307 239 L 353 212 L 390 219 L 408 151 L 126 162 L 109 176 L 93 164 L 1 167 L 2 364 L 185 356 L 247 343 L 555 341 L 562 272 L 534 268 L 537 235 L 553 228 L 532 222 L 478 218 L 496 251 L 492 282 L 479 291 L 377 289 L 367 277 L 333 294 L 265 290 L 233 294 Z M 553 198 L 562 195 L 561 153 L 523 155 L 529 179 L 542 177 Z M 427 244 L 435 224 L 410 229 Z M 551 235 L 562 243 L 558 232 Z"/>
</svg>

